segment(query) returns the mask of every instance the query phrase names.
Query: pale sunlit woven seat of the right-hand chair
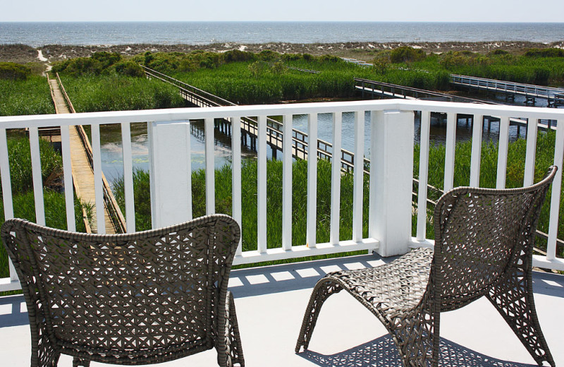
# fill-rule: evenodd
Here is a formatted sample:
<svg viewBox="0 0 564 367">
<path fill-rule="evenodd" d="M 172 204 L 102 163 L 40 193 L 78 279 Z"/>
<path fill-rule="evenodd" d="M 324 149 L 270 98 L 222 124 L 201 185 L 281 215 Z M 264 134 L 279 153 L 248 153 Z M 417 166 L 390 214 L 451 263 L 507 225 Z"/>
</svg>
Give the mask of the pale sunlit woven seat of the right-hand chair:
<svg viewBox="0 0 564 367">
<path fill-rule="evenodd" d="M 432 259 L 433 250 L 416 248 L 386 265 L 331 272 L 326 278 L 381 313 L 398 312 L 414 308 L 423 298 Z"/>
</svg>

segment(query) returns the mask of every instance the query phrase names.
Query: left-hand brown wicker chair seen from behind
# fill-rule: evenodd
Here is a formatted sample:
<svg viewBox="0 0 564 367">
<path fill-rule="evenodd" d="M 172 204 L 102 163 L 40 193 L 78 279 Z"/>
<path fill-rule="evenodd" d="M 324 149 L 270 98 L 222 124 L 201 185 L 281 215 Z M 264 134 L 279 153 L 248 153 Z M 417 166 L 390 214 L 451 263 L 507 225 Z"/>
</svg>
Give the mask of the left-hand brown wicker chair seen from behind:
<svg viewBox="0 0 564 367">
<path fill-rule="evenodd" d="M 244 366 L 227 290 L 238 224 L 210 215 L 133 234 L 79 234 L 10 219 L 1 237 L 27 303 L 31 366 L 137 365 L 216 348 Z"/>
</svg>

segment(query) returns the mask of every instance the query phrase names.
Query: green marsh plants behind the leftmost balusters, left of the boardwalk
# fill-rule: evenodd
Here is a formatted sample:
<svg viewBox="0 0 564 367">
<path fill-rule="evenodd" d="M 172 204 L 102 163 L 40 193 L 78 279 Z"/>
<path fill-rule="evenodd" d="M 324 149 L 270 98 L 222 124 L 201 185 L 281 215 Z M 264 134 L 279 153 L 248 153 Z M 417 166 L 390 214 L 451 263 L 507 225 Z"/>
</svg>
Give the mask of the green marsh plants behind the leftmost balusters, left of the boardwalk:
<svg viewBox="0 0 564 367">
<path fill-rule="evenodd" d="M 39 140 L 42 180 L 44 184 L 45 222 L 47 226 L 66 229 L 65 195 L 61 193 L 63 161 L 46 140 Z M 8 138 L 8 156 L 12 183 L 14 216 L 35 222 L 35 198 L 32 187 L 30 142 L 18 133 Z M 87 213 L 92 207 L 75 199 L 75 222 L 78 231 L 85 231 L 82 208 Z M 4 223 L 4 202 L 0 201 L 0 225 Z M 0 277 L 8 277 L 8 256 L 0 246 Z"/>
</svg>

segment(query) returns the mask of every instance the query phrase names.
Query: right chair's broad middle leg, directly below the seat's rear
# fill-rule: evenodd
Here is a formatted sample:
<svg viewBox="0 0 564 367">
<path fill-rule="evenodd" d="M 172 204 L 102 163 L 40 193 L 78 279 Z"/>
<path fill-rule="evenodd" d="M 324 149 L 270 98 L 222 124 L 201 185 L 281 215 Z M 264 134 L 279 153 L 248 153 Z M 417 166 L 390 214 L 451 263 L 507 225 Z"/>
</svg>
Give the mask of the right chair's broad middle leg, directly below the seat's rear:
<svg viewBox="0 0 564 367">
<path fill-rule="evenodd" d="M 384 322 L 382 318 L 380 320 Z M 387 319 L 384 325 L 396 342 L 405 367 L 438 366 L 439 313 L 434 315 L 418 307 L 412 313 Z"/>
</svg>

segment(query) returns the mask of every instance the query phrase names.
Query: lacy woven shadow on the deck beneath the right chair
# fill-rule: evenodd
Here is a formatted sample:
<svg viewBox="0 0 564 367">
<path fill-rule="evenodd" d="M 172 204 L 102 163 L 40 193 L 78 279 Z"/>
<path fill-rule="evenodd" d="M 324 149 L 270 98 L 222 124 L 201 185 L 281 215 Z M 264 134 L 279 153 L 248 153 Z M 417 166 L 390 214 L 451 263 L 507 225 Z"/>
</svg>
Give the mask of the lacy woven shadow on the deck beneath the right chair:
<svg viewBox="0 0 564 367">
<path fill-rule="evenodd" d="M 443 367 L 532 367 L 536 364 L 495 359 L 441 338 L 439 366 Z M 390 335 L 364 343 L 341 353 L 324 355 L 306 350 L 299 354 L 322 367 L 403 367 Z"/>
</svg>

